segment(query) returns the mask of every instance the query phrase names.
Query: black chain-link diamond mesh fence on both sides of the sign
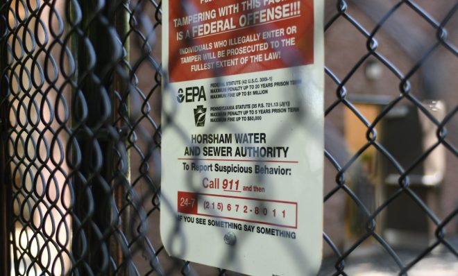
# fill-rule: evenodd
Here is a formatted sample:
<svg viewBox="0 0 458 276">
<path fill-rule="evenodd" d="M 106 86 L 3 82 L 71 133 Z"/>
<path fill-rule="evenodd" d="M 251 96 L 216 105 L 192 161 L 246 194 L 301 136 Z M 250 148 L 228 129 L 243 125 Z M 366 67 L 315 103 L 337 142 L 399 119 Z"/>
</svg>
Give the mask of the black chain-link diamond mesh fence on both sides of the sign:
<svg viewBox="0 0 458 276">
<path fill-rule="evenodd" d="M 237 275 L 160 240 L 161 20 L 154 0 L 0 1 L 3 275 Z M 456 264 L 457 30 L 453 0 L 325 1 L 321 275 L 364 248 L 391 274 Z"/>
</svg>

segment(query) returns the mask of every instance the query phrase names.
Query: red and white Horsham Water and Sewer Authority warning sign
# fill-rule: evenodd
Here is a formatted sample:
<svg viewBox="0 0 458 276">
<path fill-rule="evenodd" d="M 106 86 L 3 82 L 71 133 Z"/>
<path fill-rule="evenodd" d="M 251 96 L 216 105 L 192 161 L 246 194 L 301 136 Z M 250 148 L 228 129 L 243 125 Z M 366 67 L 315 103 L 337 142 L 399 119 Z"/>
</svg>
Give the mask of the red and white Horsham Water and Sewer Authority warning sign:
<svg viewBox="0 0 458 276">
<path fill-rule="evenodd" d="M 322 1 L 162 4 L 164 247 L 249 275 L 316 275 Z"/>
</svg>

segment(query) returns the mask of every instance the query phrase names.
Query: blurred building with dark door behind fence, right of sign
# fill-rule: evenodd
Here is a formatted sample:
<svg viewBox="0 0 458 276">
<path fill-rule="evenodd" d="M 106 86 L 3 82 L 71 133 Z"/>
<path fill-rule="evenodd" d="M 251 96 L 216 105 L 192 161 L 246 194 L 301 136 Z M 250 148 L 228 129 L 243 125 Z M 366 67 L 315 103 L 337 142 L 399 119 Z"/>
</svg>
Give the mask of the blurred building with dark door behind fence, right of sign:
<svg viewBox="0 0 458 276">
<path fill-rule="evenodd" d="M 339 17 L 325 32 L 325 66 L 344 82 L 346 99 L 368 123 L 373 123 L 384 108 L 402 94 L 402 80 L 390 70 L 391 66 L 409 80 L 409 94 L 442 121 L 448 112 L 456 112 L 458 104 L 457 56 L 438 41 L 441 31 L 434 28 L 422 12 L 439 23 L 450 17 L 446 22 L 447 40 L 456 45 L 458 16 L 453 10 L 456 10 L 457 2 L 407 1 L 391 12 L 398 4 L 399 1 L 326 1 L 325 21 L 336 15 L 336 9 L 345 11 L 345 16 Z M 379 27 L 373 37 L 378 44 L 376 55 L 366 58 L 370 45 L 367 36 Z M 359 62 L 362 63 L 353 70 Z M 325 89 L 326 107 L 330 107 L 339 101 L 342 92 L 329 74 Z M 446 140 L 450 144 L 458 143 L 457 126 L 457 116 L 452 116 L 446 123 Z M 341 166 L 345 166 L 368 142 L 368 127 L 342 102 L 327 115 L 325 127 L 326 148 Z M 377 141 L 398 159 L 404 169 L 412 166 L 438 141 L 437 126 L 430 123 L 430 119 L 407 98 L 396 103 L 396 107 L 375 128 Z M 342 141 L 341 137 L 346 139 Z M 457 209 L 457 166 L 456 153 L 439 146 L 409 174 L 412 190 L 441 219 Z M 326 169 L 325 191 L 331 191 L 336 187 L 336 170 L 330 163 Z M 359 155 L 346 179 L 348 186 L 371 212 L 400 187 L 396 169 L 374 146 L 369 146 Z M 432 219 L 407 195 L 393 200 L 378 220 L 377 232 L 391 244 L 408 248 L 425 248 L 436 230 Z M 325 232 L 341 248 L 353 244 L 348 239 L 357 241 L 364 234 L 365 222 L 366 216 L 342 190 L 325 202 Z M 343 233 L 342 229 L 346 231 Z M 456 216 L 446 230 L 448 235 L 457 234 Z M 332 255 L 331 251 L 328 247 L 325 255 Z"/>
</svg>

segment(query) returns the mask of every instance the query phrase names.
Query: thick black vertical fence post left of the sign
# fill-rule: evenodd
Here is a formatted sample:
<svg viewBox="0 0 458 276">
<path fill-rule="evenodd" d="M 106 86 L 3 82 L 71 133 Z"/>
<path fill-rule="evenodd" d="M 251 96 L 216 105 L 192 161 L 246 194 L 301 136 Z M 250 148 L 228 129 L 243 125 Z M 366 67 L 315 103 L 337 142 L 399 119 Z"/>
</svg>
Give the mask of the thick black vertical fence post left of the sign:
<svg viewBox="0 0 458 276">
<path fill-rule="evenodd" d="M 75 200 L 75 215 L 82 221 L 74 230 L 74 237 L 76 241 L 73 241 L 73 250 L 78 252 L 80 257 L 85 261 L 85 266 L 82 268 L 74 268 L 76 270 L 85 269 L 91 270 L 90 272 L 95 274 L 105 274 L 108 271 L 108 264 L 106 252 L 109 249 L 106 248 L 107 243 L 101 240 L 101 234 L 110 227 L 110 218 L 108 213 L 105 212 L 106 208 L 110 207 L 108 198 L 103 190 L 103 178 L 106 180 L 106 171 L 110 166 L 106 159 L 105 153 L 110 150 L 109 143 L 107 141 L 107 131 L 105 130 L 106 123 L 101 123 L 100 119 L 103 118 L 103 112 L 106 110 L 101 109 L 103 104 L 103 98 L 101 97 L 101 87 L 105 84 L 103 80 L 99 78 L 101 73 L 101 64 L 107 64 L 110 59 L 110 49 L 106 43 L 106 35 L 102 31 L 104 28 L 98 28 L 100 21 L 92 20 L 90 15 L 94 12 L 96 3 L 94 1 L 80 0 L 78 1 L 81 11 L 83 13 L 83 21 L 81 22 L 80 28 L 82 28 L 90 41 L 87 44 L 87 40 L 78 37 L 76 39 L 76 46 L 73 49 L 76 52 L 76 61 L 78 64 L 78 88 L 80 89 L 80 96 L 85 98 L 85 103 L 78 103 L 74 105 L 74 118 L 81 119 L 81 121 L 72 121 L 74 132 L 77 137 L 79 144 L 81 163 L 79 171 L 83 175 L 82 178 L 75 178 L 74 180 L 74 192 L 76 195 Z M 92 47 L 96 56 L 91 55 L 89 47 Z M 101 51 L 103 49 L 103 51 Z M 94 58 L 96 60 L 94 60 Z M 73 97 L 75 100 L 75 97 Z M 79 106 L 78 106 L 79 105 Z M 85 105 L 85 106 L 83 106 Z M 107 105 L 105 104 L 104 107 Z M 83 114 L 80 113 L 82 109 L 87 110 L 87 116 L 82 119 Z M 94 144 L 99 146 L 100 151 L 94 150 Z M 103 164 L 94 172 L 94 160 L 103 159 Z M 94 177 L 94 173 L 99 176 Z M 88 204 L 92 201 L 92 204 Z M 92 208 L 87 209 L 87 205 Z M 89 218 L 89 219 L 88 219 Z M 85 236 L 87 241 L 87 248 L 81 248 L 78 239 Z M 83 251 L 84 250 L 84 251 Z M 81 270 L 83 274 L 88 271 Z"/>
</svg>

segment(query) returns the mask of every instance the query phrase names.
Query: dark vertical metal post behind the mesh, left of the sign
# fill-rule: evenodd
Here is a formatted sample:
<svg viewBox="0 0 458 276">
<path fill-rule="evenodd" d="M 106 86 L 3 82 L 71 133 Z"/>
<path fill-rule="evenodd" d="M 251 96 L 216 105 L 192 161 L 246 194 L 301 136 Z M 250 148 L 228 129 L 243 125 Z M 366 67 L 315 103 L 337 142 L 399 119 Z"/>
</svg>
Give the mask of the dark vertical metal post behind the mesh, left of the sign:
<svg viewBox="0 0 458 276">
<path fill-rule="evenodd" d="M 103 221 L 107 216 L 106 214 L 101 214 L 100 209 L 110 205 L 105 202 L 105 196 L 99 181 L 100 178 L 92 177 L 92 175 L 94 174 L 94 163 L 97 163 L 96 159 L 103 158 L 100 153 L 105 151 L 105 147 L 99 142 L 99 137 L 94 137 L 94 132 L 97 131 L 95 128 L 99 125 L 99 120 L 103 118 L 103 114 L 101 114 L 103 112 L 101 110 L 103 98 L 100 94 L 101 83 L 99 83 L 97 65 L 100 62 L 105 63 L 105 60 L 98 51 L 97 40 L 94 40 L 95 37 L 101 35 L 101 31 L 98 30 L 98 18 L 91 19 L 91 14 L 94 12 L 96 4 L 94 1 L 88 0 L 79 0 L 78 3 L 82 12 L 80 28 L 85 32 L 86 37 L 75 37 L 73 43 L 72 52 L 76 57 L 76 83 L 78 83 L 79 91 L 74 91 L 71 100 L 74 102 L 71 110 L 71 124 L 79 145 L 78 149 L 74 148 L 74 150 L 78 150 L 78 153 L 74 153 L 74 156 L 79 155 L 81 157 L 78 173 L 83 175 L 83 178 L 74 178 L 73 183 L 75 194 L 74 216 L 80 221 L 80 224 L 73 224 L 74 240 L 72 241 L 72 252 L 85 262 L 85 265 L 77 266 L 74 270 L 83 275 L 99 275 L 106 274 L 108 271 L 108 268 L 99 266 L 99 264 L 103 263 L 101 260 L 107 257 L 104 256 L 106 251 L 101 251 L 103 241 L 99 240 L 99 233 L 103 233 L 106 228 L 103 225 L 105 224 Z M 90 54 L 90 49 L 88 49 L 85 41 L 86 38 L 89 38 L 90 46 L 94 48 L 96 56 Z M 103 40 L 103 37 L 99 37 L 99 39 Z M 92 64 L 96 64 L 96 68 L 93 68 Z M 77 101 L 76 93 L 80 93 L 78 97 L 84 97 L 84 103 Z M 83 110 L 87 110 L 87 117 L 85 117 L 84 121 Z M 79 128 L 76 128 L 78 126 Z M 94 142 L 101 146 L 103 149 L 101 152 L 94 150 Z M 86 248 L 81 243 L 83 236 L 87 244 Z"/>
</svg>

